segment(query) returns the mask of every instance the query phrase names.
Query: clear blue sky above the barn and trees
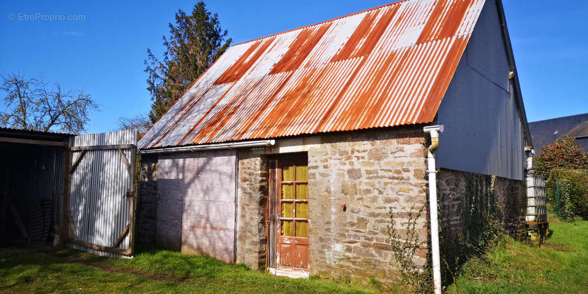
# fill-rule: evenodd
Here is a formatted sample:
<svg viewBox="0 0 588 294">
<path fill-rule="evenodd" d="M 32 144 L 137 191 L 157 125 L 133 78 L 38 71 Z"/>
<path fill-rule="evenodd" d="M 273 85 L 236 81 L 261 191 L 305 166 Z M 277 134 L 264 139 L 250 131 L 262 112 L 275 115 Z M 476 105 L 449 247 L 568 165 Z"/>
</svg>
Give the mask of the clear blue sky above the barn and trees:
<svg viewBox="0 0 588 294">
<path fill-rule="evenodd" d="M 234 43 L 314 24 L 390 1 L 206 1 Z M 143 60 L 161 56 L 161 36 L 195 1 L 3 1 L 0 70 L 44 75 L 85 88 L 102 105 L 88 132 L 112 131 L 119 116 L 149 111 Z M 529 121 L 588 112 L 588 1 L 504 0 Z M 14 14 L 15 20 L 11 20 Z M 20 14 L 20 15 L 19 15 Z M 83 15 L 85 20 L 18 20 Z"/>
</svg>

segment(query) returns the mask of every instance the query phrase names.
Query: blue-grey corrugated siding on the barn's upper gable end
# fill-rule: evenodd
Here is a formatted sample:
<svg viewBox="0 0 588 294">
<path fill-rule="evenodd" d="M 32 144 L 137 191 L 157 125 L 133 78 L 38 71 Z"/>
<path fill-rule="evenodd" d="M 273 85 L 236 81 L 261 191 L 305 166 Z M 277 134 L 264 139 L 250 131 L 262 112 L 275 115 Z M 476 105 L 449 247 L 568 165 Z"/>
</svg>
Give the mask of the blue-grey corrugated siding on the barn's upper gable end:
<svg viewBox="0 0 588 294">
<path fill-rule="evenodd" d="M 436 152 L 440 168 L 524 179 L 522 121 L 494 1 L 487 1 L 445 98 Z"/>
</svg>

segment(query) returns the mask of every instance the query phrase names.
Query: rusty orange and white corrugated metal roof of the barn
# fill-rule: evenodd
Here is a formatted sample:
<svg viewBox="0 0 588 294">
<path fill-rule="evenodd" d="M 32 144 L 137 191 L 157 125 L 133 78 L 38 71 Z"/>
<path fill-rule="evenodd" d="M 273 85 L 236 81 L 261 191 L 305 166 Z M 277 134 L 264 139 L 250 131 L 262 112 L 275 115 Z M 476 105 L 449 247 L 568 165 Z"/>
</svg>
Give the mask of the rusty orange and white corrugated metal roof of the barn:
<svg viewBox="0 0 588 294">
<path fill-rule="evenodd" d="M 432 122 L 484 0 L 404 0 L 231 46 L 156 148 Z"/>
</svg>

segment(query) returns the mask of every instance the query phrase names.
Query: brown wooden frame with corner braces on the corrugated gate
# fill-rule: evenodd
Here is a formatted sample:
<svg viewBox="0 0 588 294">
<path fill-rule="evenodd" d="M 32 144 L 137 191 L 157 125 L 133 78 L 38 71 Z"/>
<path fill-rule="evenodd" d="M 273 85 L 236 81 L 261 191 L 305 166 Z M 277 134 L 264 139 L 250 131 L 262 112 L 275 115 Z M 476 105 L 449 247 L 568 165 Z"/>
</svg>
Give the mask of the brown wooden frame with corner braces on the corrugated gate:
<svg viewBox="0 0 588 294">
<path fill-rule="evenodd" d="M 71 176 L 74 173 L 75 169 L 78 167 L 79 163 L 82 161 L 83 156 L 86 154 L 87 151 L 93 150 L 113 150 L 118 149 L 119 153 L 121 153 L 122 162 L 125 163 L 126 169 L 129 173 L 129 178 L 131 179 L 131 189 L 126 192 L 126 199 L 129 201 L 130 211 L 129 211 L 129 223 L 126 225 L 125 229 L 123 229 L 121 236 L 116 239 L 116 242 L 112 246 L 103 246 L 98 245 L 90 242 L 86 242 L 83 240 L 78 239 L 78 233 L 76 232 L 74 221 L 72 220 L 72 213 L 70 209 L 70 200 L 71 200 Z M 131 161 L 126 158 L 125 152 L 123 149 L 131 149 Z M 76 159 L 76 161 L 72 164 L 73 153 L 81 151 L 80 155 Z M 136 166 L 136 152 L 137 146 L 134 144 L 119 144 L 119 145 L 93 145 L 93 146 L 73 146 L 69 149 L 66 149 L 64 152 L 64 173 L 65 173 L 65 186 L 64 186 L 64 193 L 62 193 L 62 201 L 61 201 L 61 224 L 59 226 L 60 234 L 63 236 L 64 243 L 74 243 L 77 245 L 85 246 L 90 249 L 111 252 L 111 253 L 118 253 L 122 255 L 132 255 L 135 249 L 135 191 L 136 191 L 136 183 L 135 183 L 135 166 Z M 73 238 L 69 236 L 69 230 L 71 229 Z M 122 240 L 125 239 L 126 235 L 129 235 L 129 249 L 121 249 L 118 246 L 121 245 Z"/>
</svg>

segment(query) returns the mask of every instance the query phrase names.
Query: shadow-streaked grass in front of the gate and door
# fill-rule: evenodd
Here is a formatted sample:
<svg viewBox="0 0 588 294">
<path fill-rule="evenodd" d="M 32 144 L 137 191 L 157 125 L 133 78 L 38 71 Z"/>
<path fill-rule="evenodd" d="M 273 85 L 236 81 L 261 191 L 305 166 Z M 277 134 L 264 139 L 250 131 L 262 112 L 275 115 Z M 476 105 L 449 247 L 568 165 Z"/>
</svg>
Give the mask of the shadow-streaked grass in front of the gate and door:
<svg viewBox="0 0 588 294">
<path fill-rule="evenodd" d="M 108 259 L 71 249 L 0 257 L 0 293 L 376 293 L 377 288 L 279 278 L 162 250 L 134 259 Z"/>
</svg>

